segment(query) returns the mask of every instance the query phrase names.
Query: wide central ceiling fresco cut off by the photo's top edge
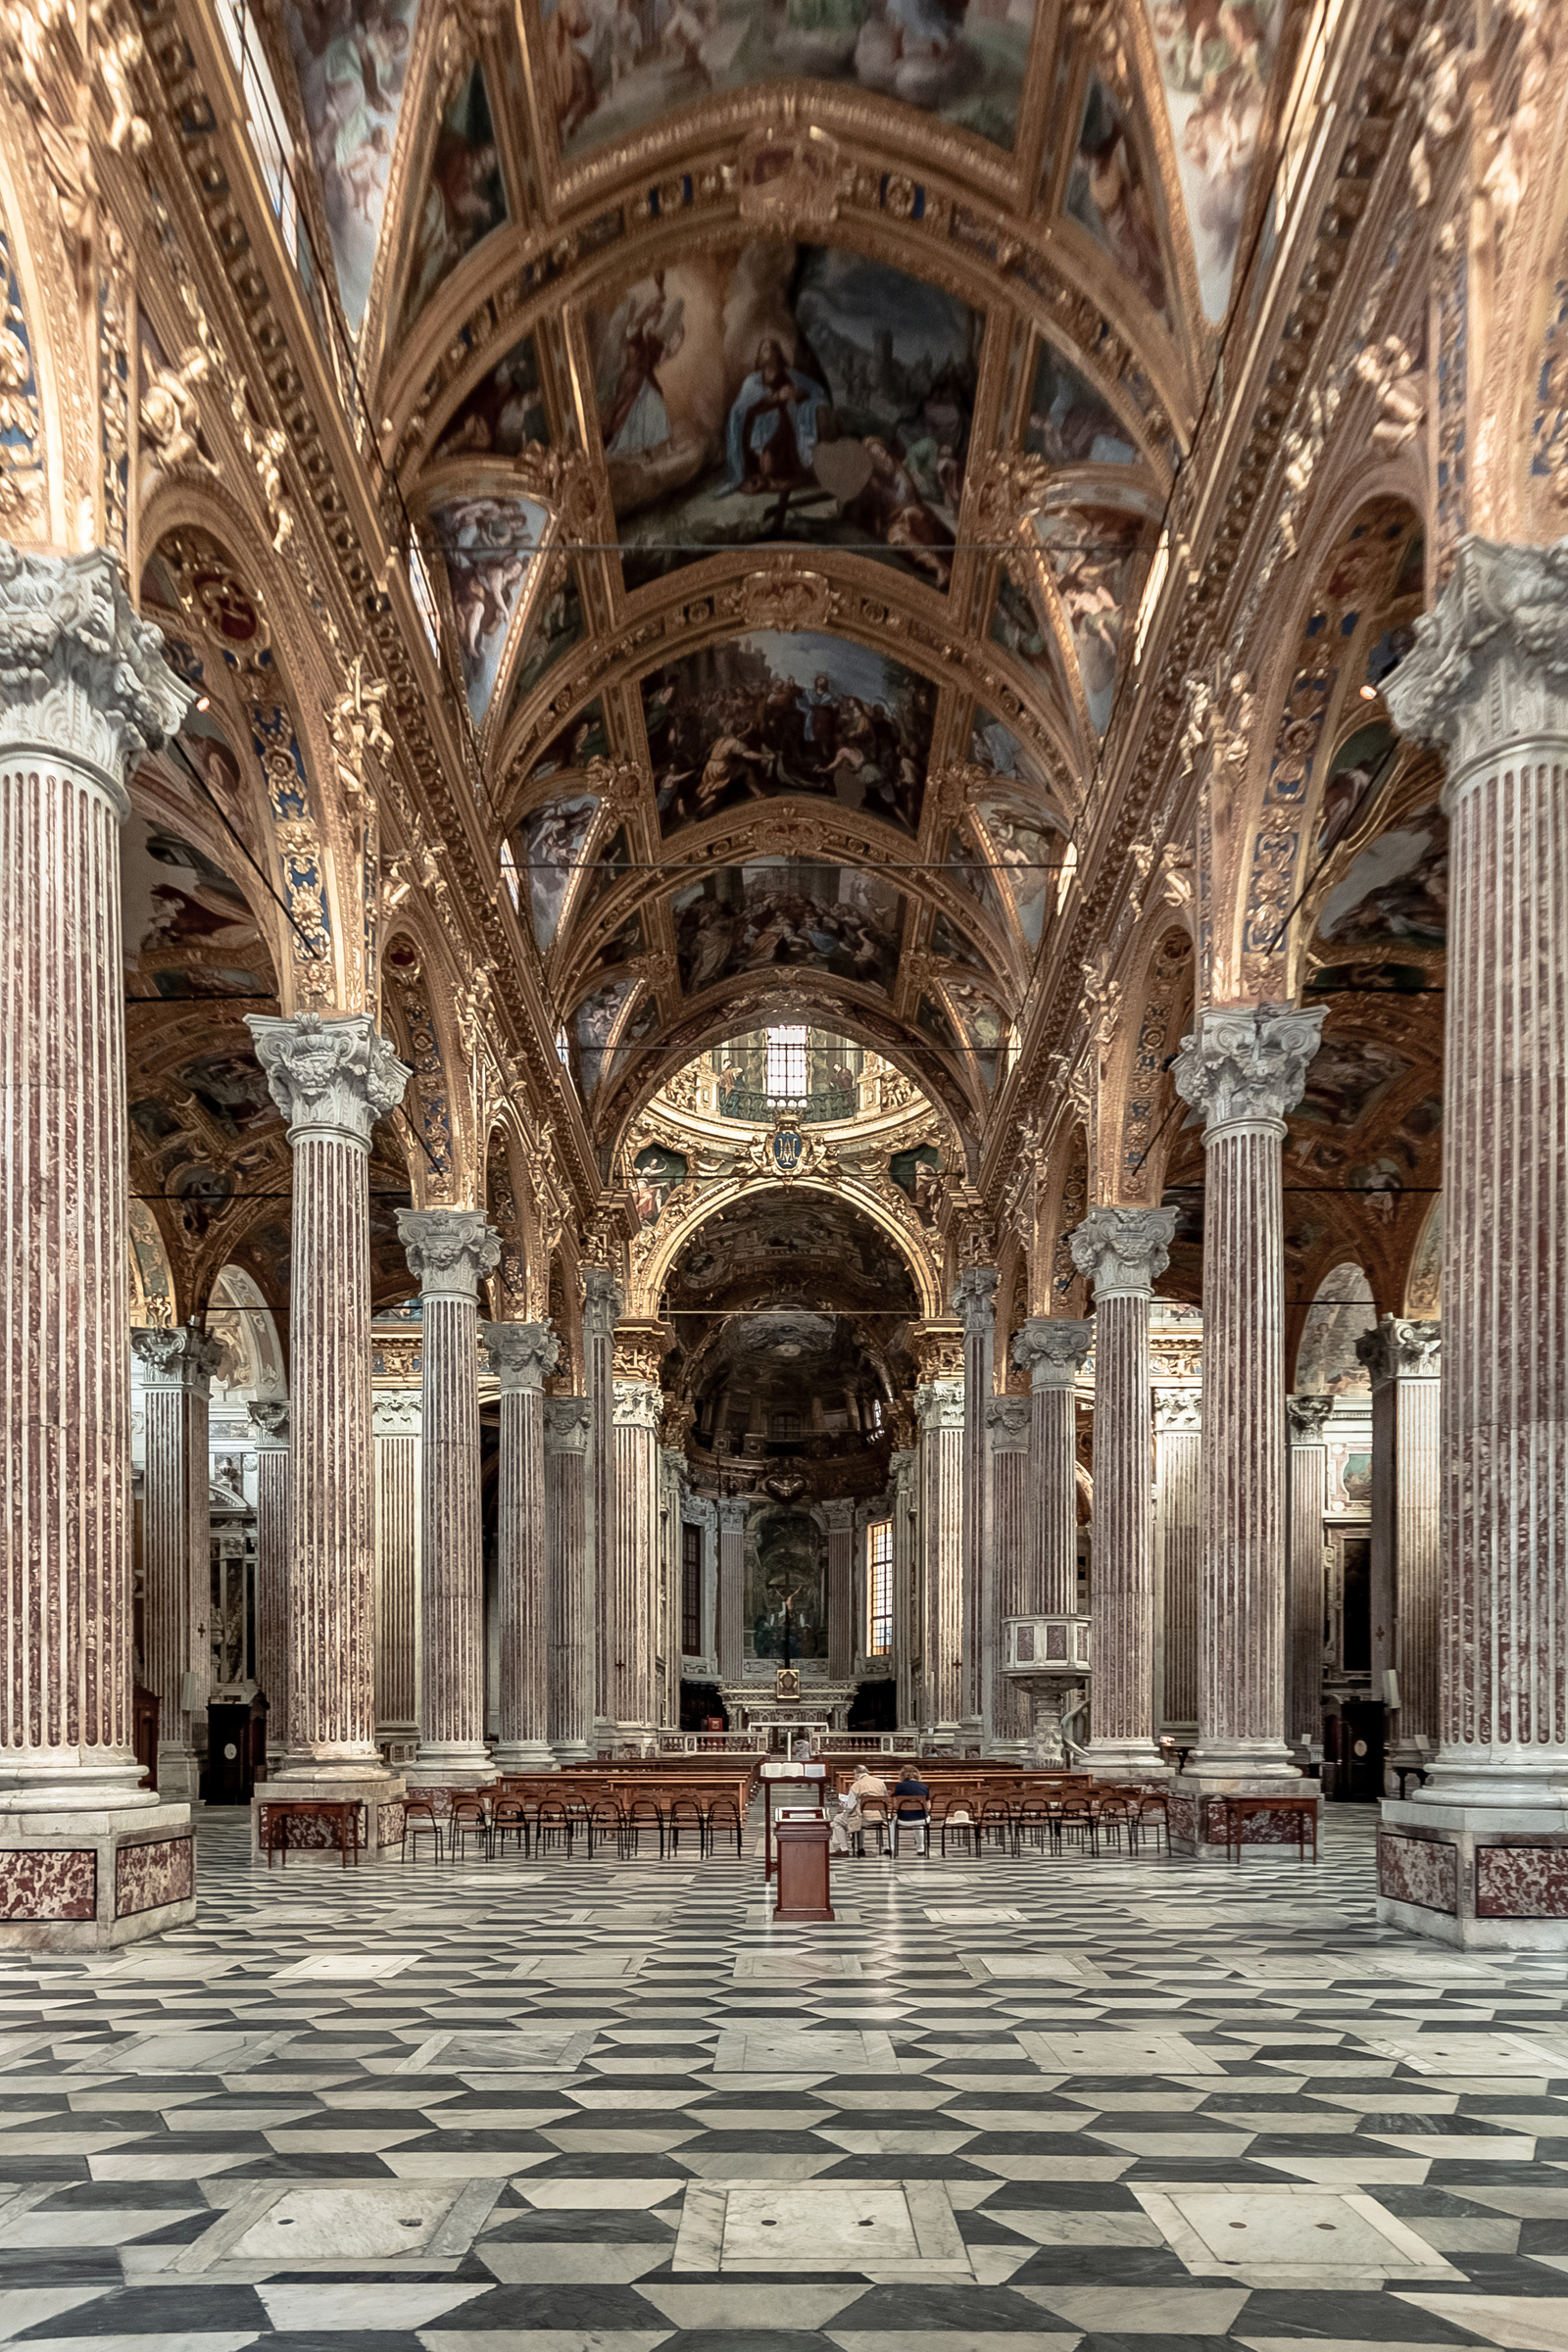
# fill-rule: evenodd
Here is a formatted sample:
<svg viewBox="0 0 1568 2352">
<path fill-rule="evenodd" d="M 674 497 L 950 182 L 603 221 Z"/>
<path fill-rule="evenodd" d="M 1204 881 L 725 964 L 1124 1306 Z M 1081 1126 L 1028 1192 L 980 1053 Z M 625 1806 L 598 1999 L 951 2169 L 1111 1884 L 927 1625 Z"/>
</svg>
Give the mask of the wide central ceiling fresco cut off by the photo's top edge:
<svg viewBox="0 0 1568 2352">
<path fill-rule="evenodd" d="M 846 82 L 1011 148 L 1032 0 L 541 0 L 571 162 L 748 82 Z"/>
</svg>

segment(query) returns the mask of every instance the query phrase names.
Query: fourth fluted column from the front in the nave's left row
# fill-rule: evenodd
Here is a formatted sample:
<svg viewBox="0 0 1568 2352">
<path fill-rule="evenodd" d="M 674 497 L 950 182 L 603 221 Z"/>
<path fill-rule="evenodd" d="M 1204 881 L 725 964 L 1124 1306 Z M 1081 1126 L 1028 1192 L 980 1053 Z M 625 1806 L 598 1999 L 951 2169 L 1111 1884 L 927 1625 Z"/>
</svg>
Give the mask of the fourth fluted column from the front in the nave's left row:
<svg viewBox="0 0 1568 2352">
<path fill-rule="evenodd" d="M 501 1383 L 496 1599 L 501 1616 L 498 1771 L 552 1771 L 550 1576 L 545 1566 L 545 1378 L 562 1343 L 548 1322 L 484 1324 Z"/>
</svg>

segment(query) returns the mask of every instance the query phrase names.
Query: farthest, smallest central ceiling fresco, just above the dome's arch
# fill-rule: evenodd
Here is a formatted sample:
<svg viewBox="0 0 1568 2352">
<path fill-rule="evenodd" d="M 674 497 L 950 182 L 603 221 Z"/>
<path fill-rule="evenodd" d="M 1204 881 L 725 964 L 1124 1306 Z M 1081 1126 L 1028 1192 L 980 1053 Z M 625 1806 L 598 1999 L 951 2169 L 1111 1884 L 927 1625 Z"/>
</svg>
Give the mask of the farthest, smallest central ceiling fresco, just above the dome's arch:
<svg viewBox="0 0 1568 2352">
<path fill-rule="evenodd" d="M 686 995 L 780 967 L 893 990 L 905 903 L 882 875 L 806 858 L 722 866 L 670 898 Z"/>
</svg>

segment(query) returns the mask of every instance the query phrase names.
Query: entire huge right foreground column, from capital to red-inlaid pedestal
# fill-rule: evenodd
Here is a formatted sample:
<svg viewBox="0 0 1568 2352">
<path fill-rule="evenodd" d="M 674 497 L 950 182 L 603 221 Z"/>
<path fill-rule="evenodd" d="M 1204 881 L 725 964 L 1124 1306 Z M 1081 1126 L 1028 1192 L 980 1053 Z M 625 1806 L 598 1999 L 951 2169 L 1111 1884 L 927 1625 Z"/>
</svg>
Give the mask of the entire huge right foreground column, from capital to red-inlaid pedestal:
<svg viewBox="0 0 1568 2352">
<path fill-rule="evenodd" d="M 1566 555 L 1462 539 L 1387 682 L 1448 753 L 1450 915 L 1439 1748 L 1378 1917 L 1528 1952 L 1568 1950 Z"/>
</svg>

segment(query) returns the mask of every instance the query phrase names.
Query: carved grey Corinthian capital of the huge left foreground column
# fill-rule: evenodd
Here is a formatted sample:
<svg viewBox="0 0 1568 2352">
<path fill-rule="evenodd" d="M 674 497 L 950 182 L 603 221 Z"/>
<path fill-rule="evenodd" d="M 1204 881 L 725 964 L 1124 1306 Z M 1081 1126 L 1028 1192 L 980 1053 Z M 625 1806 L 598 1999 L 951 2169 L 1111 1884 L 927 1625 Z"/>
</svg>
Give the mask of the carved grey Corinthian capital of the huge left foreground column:
<svg viewBox="0 0 1568 2352">
<path fill-rule="evenodd" d="M 0 753 L 87 767 L 125 816 L 125 769 L 190 708 L 162 630 L 139 621 L 103 548 L 24 555 L 0 539 Z"/>
</svg>

